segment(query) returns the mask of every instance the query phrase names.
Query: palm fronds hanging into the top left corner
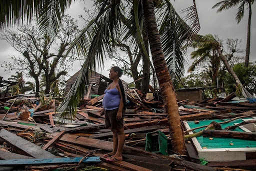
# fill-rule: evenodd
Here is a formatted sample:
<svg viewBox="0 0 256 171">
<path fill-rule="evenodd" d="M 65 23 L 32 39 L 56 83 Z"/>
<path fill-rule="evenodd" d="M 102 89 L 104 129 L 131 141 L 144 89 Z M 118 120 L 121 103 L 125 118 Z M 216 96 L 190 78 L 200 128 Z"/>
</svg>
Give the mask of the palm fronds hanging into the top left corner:
<svg viewBox="0 0 256 171">
<path fill-rule="evenodd" d="M 54 36 L 63 13 L 72 0 L 1 0 L 0 27 L 20 25 L 24 19 L 38 19 L 41 33 Z"/>
</svg>

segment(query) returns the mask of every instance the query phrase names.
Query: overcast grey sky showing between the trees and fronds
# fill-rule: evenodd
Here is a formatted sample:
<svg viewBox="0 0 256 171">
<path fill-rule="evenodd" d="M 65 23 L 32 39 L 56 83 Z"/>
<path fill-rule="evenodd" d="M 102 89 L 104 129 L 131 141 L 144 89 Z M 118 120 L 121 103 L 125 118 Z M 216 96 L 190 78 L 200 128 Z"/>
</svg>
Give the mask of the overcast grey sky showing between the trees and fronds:
<svg viewBox="0 0 256 171">
<path fill-rule="evenodd" d="M 176 11 L 180 11 L 192 4 L 192 0 L 170 0 Z M 198 16 L 200 21 L 200 31 L 199 34 L 216 34 L 219 38 L 225 40 L 226 38 L 238 38 L 242 39 L 241 48 L 245 49 L 246 45 L 246 31 L 247 31 L 247 20 L 248 20 L 248 12 L 247 10 L 244 12 L 245 15 L 242 18 L 239 24 L 235 21 L 235 13 L 237 8 L 225 10 L 222 12 L 216 13 L 216 9 L 211 9 L 211 7 L 221 0 L 196 0 Z M 78 18 L 79 14 L 84 14 L 83 8 L 90 8 L 92 3 L 89 0 L 85 0 L 85 2 L 76 0 L 67 11 L 74 18 Z M 252 5 L 252 19 L 251 19 L 251 42 L 250 42 L 250 60 L 256 60 L 256 4 Z M 84 23 L 81 20 L 78 20 L 78 25 L 82 26 Z M 225 42 L 225 41 L 223 41 Z M 191 64 L 192 61 L 189 60 L 189 53 L 191 51 L 187 51 L 188 55 L 188 64 Z M 21 55 L 6 42 L 0 40 L 0 62 L 2 63 L 4 60 L 8 60 L 11 55 Z M 242 54 L 241 54 L 242 55 Z M 243 54 L 244 55 L 244 54 Z M 105 62 L 104 70 L 99 71 L 103 75 L 108 76 L 108 71 L 110 65 L 114 63 L 109 60 Z M 81 68 L 82 62 L 75 62 L 72 69 L 69 71 L 69 75 L 74 74 Z M 186 66 L 187 68 L 188 66 Z M 5 73 L 3 68 L 0 68 L 0 76 L 3 76 L 3 79 L 7 79 L 10 75 L 15 74 L 15 71 L 11 73 Z M 123 79 L 127 82 L 131 82 L 131 78 L 123 77 Z"/>
</svg>

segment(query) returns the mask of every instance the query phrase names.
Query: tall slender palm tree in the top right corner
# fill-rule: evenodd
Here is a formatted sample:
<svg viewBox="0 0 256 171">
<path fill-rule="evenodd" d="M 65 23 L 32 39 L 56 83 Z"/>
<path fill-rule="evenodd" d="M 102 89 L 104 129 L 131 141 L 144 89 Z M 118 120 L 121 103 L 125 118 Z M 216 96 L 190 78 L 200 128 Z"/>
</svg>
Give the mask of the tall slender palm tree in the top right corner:
<svg viewBox="0 0 256 171">
<path fill-rule="evenodd" d="M 247 22 L 247 37 L 246 37 L 246 50 L 245 50 L 245 67 L 248 67 L 249 63 L 249 54 L 250 54 L 250 23 L 251 23 L 251 5 L 255 0 L 223 0 L 216 3 L 212 8 L 219 7 L 217 12 L 226 10 L 235 6 L 238 6 L 235 20 L 239 23 L 244 15 L 244 7 L 247 6 L 248 9 L 248 22 Z"/>
</svg>

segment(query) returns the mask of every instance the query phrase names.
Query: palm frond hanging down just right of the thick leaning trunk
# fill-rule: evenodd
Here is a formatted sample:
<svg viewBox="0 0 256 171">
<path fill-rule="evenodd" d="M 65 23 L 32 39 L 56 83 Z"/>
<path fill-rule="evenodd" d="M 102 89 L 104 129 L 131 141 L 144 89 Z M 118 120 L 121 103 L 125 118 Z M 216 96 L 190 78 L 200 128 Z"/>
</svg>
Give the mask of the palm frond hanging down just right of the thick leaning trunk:
<svg viewBox="0 0 256 171">
<path fill-rule="evenodd" d="M 171 3 L 166 3 L 156 11 L 162 18 L 159 33 L 168 70 L 177 77 L 183 75 L 186 62 L 182 45 L 195 35 L 191 27 L 177 14 Z"/>
</svg>

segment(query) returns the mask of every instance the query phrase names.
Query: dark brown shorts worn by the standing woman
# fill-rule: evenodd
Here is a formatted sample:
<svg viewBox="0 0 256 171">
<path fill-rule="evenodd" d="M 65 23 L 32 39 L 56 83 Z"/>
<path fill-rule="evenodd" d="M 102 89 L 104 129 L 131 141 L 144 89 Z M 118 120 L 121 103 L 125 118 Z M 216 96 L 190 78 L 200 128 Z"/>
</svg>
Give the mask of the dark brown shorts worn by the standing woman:
<svg viewBox="0 0 256 171">
<path fill-rule="evenodd" d="M 118 108 L 112 110 L 105 110 L 105 126 L 106 128 L 110 127 L 110 129 L 121 129 L 123 128 L 123 118 L 124 118 L 124 110 L 122 110 L 122 118 L 120 120 L 116 119 L 116 115 L 118 112 Z"/>
</svg>

